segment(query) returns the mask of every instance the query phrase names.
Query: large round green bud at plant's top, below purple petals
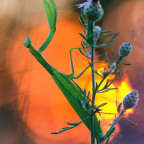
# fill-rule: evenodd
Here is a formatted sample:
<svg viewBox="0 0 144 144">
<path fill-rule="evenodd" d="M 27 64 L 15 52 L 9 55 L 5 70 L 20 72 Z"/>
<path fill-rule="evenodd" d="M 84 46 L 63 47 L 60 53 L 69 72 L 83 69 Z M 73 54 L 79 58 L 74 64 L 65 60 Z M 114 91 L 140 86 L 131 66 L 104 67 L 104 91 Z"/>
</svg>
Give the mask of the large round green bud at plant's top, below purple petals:
<svg viewBox="0 0 144 144">
<path fill-rule="evenodd" d="M 87 2 L 83 12 L 87 20 L 90 21 L 99 21 L 104 15 L 103 8 L 98 0 Z"/>
</svg>

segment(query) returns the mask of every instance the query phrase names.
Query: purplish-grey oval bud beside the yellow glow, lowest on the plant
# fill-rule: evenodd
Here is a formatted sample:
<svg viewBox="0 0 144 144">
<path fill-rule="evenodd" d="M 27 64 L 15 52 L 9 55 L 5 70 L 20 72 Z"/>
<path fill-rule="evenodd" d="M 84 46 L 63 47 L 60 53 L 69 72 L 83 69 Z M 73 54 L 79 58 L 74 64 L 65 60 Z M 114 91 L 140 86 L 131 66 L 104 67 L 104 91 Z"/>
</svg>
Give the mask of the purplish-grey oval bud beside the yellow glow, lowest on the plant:
<svg viewBox="0 0 144 144">
<path fill-rule="evenodd" d="M 130 109 L 136 106 L 138 101 L 138 93 L 136 90 L 131 91 L 128 93 L 123 99 L 123 108 Z"/>
</svg>

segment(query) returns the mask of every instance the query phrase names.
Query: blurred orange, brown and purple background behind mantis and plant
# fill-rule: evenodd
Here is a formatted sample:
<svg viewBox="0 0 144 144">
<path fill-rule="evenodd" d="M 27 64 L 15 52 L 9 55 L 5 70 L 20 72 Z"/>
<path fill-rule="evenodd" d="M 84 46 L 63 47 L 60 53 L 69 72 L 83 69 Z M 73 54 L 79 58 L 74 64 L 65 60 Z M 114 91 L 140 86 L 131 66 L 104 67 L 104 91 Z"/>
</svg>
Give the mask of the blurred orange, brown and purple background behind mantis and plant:
<svg viewBox="0 0 144 144">
<path fill-rule="evenodd" d="M 69 49 L 79 47 L 79 32 L 83 27 L 78 22 L 80 9 L 76 4 L 83 0 L 55 0 L 58 9 L 57 31 L 44 57 L 61 72 L 70 73 Z M 97 54 L 118 48 L 131 41 L 133 52 L 125 59 L 132 66 L 127 69 L 114 86 L 120 90 L 98 96 L 97 101 L 109 102 L 105 112 L 115 112 L 115 100 L 131 89 L 137 89 L 140 100 L 137 107 L 129 111 L 129 119 L 137 123 L 130 125 L 121 119 L 110 144 L 143 144 L 144 142 L 144 1 L 101 0 L 105 16 L 99 25 L 105 30 L 120 32 L 116 41 Z M 51 135 L 66 126 L 66 122 L 80 119 L 62 95 L 50 75 L 23 46 L 27 35 L 32 37 L 38 49 L 48 35 L 48 25 L 42 0 L 0 0 L 0 144 L 89 144 L 90 134 L 84 125 L 60 135 Z M 88 63 L 73 53 L 76 74 Z M 102 66 L 100 66 L 101 68 Z M 85 80 L 85 81 L 84 81 Z M 83 88 L 90 88 L 90 71 L 85 79 L 78 80 Z M 114 116 L 102 115 L 104 131 Z M 100 119 L 102 119 L 100 117 Z"/>
</svg>

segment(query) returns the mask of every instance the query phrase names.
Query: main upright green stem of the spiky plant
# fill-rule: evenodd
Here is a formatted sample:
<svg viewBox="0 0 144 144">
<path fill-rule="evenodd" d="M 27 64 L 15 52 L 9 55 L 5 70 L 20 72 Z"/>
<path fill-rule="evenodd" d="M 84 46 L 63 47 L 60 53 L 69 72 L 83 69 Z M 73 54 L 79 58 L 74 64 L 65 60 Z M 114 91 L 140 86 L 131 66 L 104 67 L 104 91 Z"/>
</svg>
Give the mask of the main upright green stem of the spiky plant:
<svg viewBox="0 0 144 144">
<path fill-rule="evenodd" d="M 94 74 L 94 47 L 93 47 L 93 22 L 88 22 L 88 34 L 91 37 L 91 74 L 92 74 L 92 108 L 94 108 L 95 104 L 95 74 Z M 91 118 L 90 118 L 90 125 L 91 125 L 91 144 L 95 144 L 95 135 L 94 135 L 94 117 L 93 117 L 93 110 L 91 110 Z"/>
</svg>

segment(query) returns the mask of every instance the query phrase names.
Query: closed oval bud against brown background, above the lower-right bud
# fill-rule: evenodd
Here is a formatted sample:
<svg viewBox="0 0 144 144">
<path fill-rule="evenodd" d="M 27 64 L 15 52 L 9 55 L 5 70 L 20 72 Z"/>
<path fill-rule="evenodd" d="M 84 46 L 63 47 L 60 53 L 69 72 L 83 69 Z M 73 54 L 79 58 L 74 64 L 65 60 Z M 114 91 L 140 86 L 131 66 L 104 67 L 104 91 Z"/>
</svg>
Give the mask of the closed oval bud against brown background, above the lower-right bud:
<svg viewBox="0 0 144 144">
<path fill-rule="evenodd" d="M 130 42 L 123 43 L 119 48 L 119 54 L 121 57 L 126 57 L 132 52 L 132 45 Z"/>
</svg>

